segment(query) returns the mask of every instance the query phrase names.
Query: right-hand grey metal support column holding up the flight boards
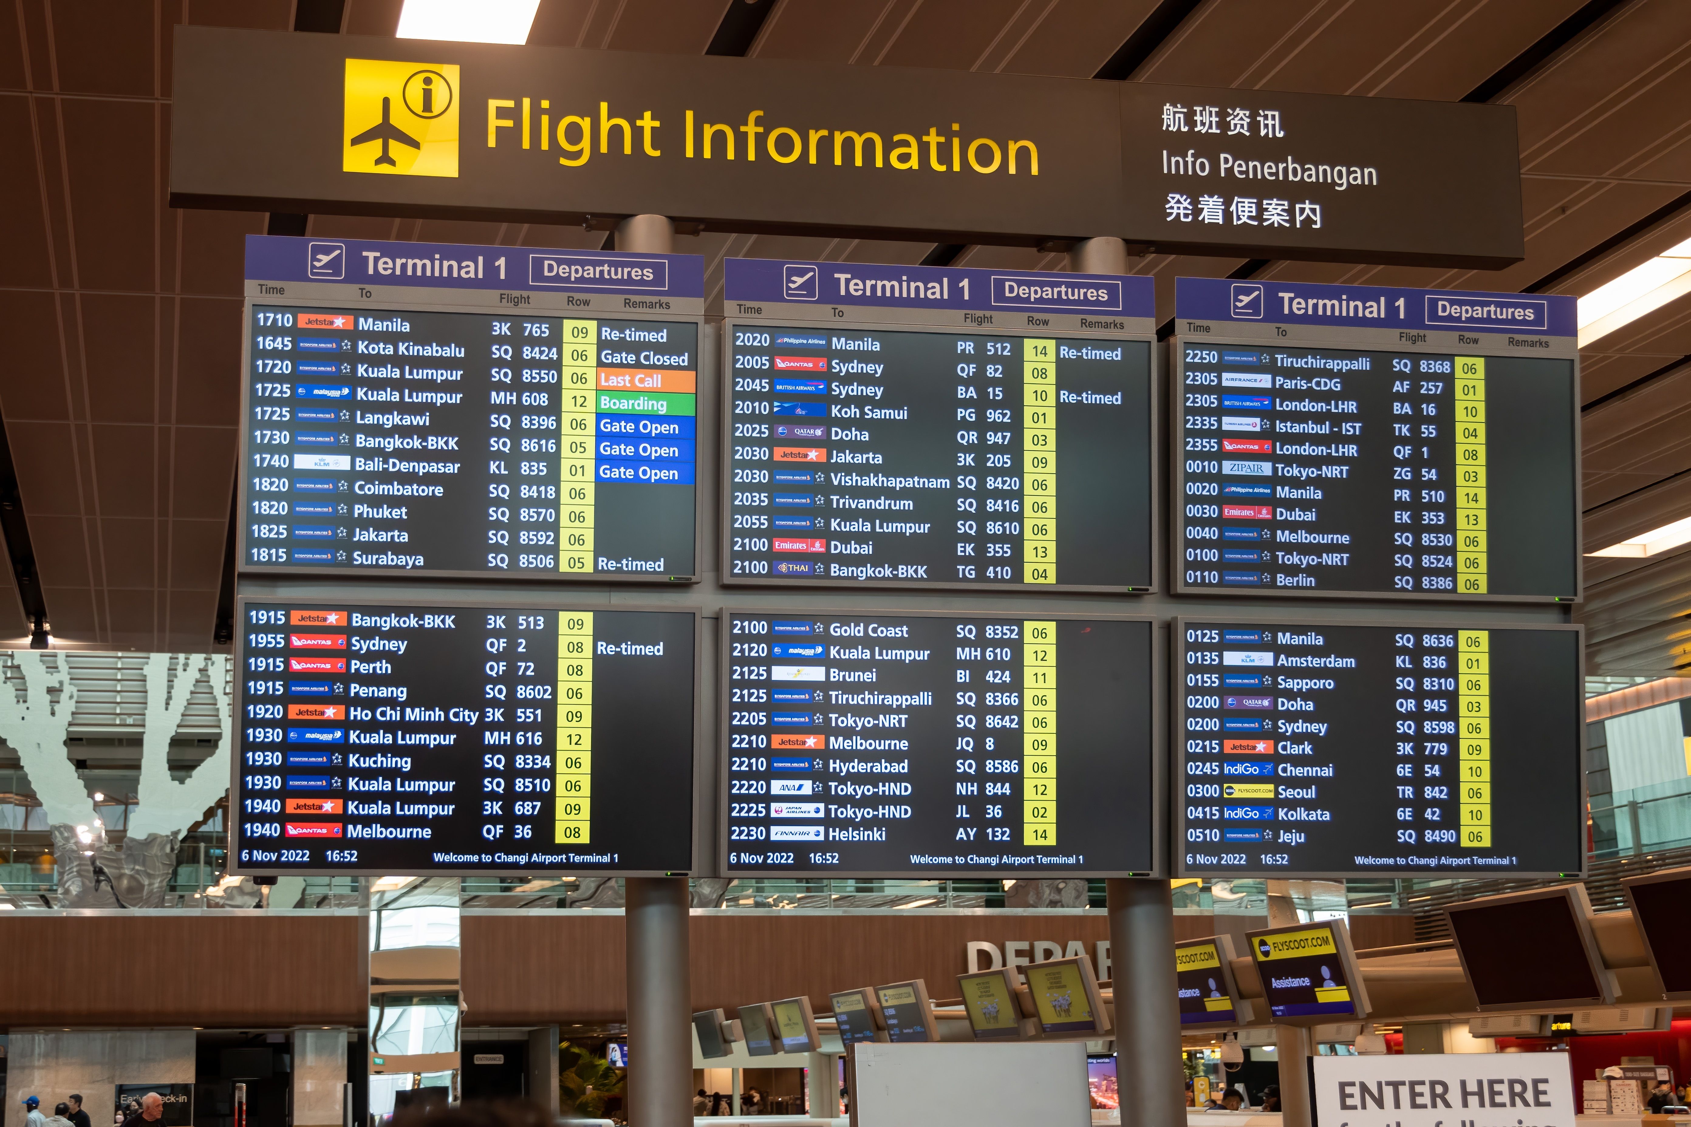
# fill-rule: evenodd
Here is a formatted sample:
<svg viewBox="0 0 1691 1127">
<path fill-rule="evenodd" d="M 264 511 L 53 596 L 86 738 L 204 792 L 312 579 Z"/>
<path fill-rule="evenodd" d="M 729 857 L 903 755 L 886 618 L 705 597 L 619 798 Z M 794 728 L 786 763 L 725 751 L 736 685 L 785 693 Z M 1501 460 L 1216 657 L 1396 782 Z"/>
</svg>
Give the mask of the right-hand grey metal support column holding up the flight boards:
<svg viewBox="0 0 1691 1127">
<path fill-rule="evenodd" d="M 1121 245 L 1121 240 L 1113 242 Z M 1121 1102 L 1121 1127 L 1184 1124 L 1174 896 L 1168 882 L 1157 879 L 1109 880 L 1106 887 L 1116 995 L 1116 1088 L 1133 1093 Z"/>
</svg>

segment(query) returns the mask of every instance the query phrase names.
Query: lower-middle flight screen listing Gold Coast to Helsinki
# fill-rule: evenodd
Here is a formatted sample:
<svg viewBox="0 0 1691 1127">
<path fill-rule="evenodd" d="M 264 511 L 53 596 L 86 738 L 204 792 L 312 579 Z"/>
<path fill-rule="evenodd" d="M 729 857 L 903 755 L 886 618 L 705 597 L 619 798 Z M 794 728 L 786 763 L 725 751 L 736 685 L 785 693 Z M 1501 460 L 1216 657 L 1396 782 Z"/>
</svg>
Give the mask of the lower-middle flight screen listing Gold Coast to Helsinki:
<svg viewBox="0 0 1691 1127">
<path fill-rule="evenodd" d="M 1152 623 L 724 610 L 727 874 L 1146 874 Z"/>
</svg>

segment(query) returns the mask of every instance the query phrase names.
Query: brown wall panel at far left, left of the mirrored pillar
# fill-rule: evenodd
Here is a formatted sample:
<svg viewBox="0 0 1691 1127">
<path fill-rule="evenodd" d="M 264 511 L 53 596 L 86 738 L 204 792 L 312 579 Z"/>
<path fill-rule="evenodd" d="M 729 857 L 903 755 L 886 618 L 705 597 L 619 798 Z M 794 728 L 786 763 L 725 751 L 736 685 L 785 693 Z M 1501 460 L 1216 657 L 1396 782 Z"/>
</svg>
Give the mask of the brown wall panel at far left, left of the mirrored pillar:
<svg viewBox="0 0 1691 1127">
<path fill-rule="evenodd" d="M 0 914 L 7 1026 L 364 1026 L 355 916 Z"/>
</svg>

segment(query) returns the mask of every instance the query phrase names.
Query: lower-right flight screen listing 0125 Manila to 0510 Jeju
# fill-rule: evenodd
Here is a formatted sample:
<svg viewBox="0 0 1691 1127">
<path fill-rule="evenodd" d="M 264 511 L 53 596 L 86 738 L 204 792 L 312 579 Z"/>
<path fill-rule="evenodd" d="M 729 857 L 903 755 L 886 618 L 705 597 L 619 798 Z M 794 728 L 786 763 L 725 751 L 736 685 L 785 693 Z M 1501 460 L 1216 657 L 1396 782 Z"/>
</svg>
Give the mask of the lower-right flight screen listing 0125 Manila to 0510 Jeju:
<svg viewBox="0 0 1691 1127">
<path fill-rule="evenodd" d="M 1581 630 L 1175 618 L 1182 875 L 1584 865 Z"/>
</svg>

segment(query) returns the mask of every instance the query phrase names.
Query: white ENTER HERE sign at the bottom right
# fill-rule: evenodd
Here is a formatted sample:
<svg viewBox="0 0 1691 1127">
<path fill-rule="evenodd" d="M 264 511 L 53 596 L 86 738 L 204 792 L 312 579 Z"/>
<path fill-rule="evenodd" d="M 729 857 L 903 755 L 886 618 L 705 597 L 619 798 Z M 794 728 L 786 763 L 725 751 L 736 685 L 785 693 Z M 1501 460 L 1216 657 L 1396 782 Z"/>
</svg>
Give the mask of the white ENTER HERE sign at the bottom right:
<svg viewBox="0 0 1691 1127">
<path fill-rule="evenodd" d="M 1573 1127 L 1574 1083 L 1566 1053 L 1317 1056 L 1321 1127 L 1453 1127 L 1520 1119 Z"/>
</svg>

